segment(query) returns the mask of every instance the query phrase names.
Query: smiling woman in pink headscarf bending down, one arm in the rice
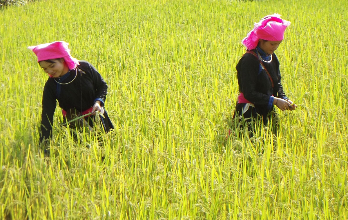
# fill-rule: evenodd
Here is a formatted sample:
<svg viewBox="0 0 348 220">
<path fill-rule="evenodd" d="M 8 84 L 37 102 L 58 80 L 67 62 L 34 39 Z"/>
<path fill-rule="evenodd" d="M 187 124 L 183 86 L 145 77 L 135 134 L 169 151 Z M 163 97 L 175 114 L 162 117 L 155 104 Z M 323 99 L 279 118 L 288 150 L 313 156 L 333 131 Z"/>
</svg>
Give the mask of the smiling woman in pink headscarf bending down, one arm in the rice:
<svg viewBox="0 0 348 220">
<path fill-rule="evenodd" d="M 52 136 L 53 115 L 58 100 L 65 121 L 72 115 L 101 112 L 101 124 L 108 132 L 113 129 L 104 101 L 108 85 L 98 71 L 84 60 L 70 55 L 68 43 L 55 41 L 28 47 L 38 57 L 41 68 L 49 75 L 42 94 L 40 143 Z M 93 115 L 83 123 L 93 127 Z"/>
</svg>

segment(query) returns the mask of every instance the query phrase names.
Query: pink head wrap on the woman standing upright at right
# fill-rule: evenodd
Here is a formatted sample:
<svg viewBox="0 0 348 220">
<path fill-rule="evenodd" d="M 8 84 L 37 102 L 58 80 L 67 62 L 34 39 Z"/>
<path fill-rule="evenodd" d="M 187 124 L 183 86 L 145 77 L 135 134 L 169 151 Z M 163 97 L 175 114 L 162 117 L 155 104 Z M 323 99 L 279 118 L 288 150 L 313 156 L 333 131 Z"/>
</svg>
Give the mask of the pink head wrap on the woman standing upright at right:
<svg viewBox="0 0 348 220">
<path fill-rule="evenodd" d="M 255 49 L 258 46 L 259 39 L 269 41 L 280 41 L 284 39 L 284 32 L 289 21 L 280 18 L 279 14 L 268 15 L 254 24 L 247 36 L 242 40 L 242 43 L 247 50 Z"/>
</svg>

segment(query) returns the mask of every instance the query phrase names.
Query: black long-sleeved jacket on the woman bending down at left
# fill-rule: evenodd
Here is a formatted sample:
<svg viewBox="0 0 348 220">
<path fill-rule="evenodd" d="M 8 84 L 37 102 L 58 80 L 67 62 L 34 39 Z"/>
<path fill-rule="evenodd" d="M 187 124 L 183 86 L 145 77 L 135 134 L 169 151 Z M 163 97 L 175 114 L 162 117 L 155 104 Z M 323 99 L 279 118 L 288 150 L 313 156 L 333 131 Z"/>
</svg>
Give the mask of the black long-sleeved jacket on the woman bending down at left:
<svg viewBox="0 0 348 220">
<path fill-rule="evenodd" d="M 60 78 L 49 78 L 46 81 L 42 93 L 40 142 L 52 136 L 56 100 L 65 111 L 70 108 L 76 108 L 79 112 L 85 111 L 92 107 L 96 100 L 104 104 L 108 85 L 92 64 L 83 60 L 79 63 L 77 73 L 76 69 L 69 70 Z M 68 84 L 59 84 L 57 81 Z M 72 82 L 69 83 L 70 81 Z"/>
</svg>

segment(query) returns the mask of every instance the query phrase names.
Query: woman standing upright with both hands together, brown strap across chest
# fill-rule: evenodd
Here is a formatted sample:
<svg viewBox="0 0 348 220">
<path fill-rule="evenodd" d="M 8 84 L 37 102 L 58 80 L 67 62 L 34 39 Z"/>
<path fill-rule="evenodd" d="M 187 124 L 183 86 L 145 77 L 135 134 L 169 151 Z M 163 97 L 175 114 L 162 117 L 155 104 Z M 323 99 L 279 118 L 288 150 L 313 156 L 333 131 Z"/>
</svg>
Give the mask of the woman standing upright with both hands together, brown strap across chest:
<svg viewBox="0 0 348 220">
<path fill-rule="evenodd" d="M 233 117 L 250 131 L 254 130 L 255 122 L 262 121 L 267 125 L 273 118 L 272 128 L 276 135 L 274 105 L 282 111 L 297 107 L 283 91 L 279 61 L 274 54 L 289 25 L 290 22 L 280 15 L 269 15 L 255 23 L 253 30 L 242 40 L 247 51 L 236 66 L 240 93 Z"/>
</svg>

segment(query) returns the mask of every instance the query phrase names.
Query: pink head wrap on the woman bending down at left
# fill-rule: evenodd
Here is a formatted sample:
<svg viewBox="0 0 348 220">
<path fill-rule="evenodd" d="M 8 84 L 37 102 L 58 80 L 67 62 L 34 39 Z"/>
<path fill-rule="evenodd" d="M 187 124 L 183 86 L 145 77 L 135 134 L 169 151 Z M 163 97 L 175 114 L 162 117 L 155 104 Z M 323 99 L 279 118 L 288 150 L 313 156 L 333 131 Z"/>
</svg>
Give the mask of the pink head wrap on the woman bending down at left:
<svg viewBox="0 0 348 220">
<path fill-rule="evenodd" d="M 54 41 L 52 43 L 44 43 L 38 46 L 31 46 L 31 49 L 38 57 L 38 62 L 47 59 L 63 58 L 70 70 L 79 65 L 79 60 L 70 55 L 69 43 L 65 41 Z"/>
</svg>

